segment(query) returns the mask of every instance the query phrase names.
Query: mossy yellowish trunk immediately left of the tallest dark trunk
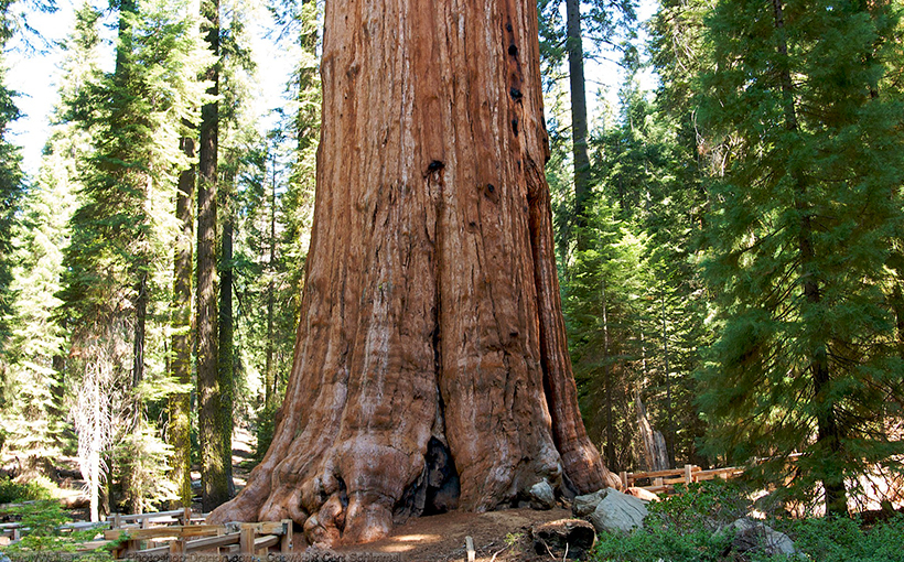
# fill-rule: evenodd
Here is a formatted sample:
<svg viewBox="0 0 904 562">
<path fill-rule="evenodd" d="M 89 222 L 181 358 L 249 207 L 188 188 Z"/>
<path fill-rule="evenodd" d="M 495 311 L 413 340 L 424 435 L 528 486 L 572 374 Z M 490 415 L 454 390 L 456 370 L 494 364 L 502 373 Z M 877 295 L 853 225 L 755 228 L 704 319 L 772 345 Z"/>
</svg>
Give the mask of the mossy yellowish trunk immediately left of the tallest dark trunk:
<svg viewBox="0 0 904 562">
<path fill-rule="evenodd" d="M 195 158 L 195 140 L 183 138 L 182 151 L 191 160 Z M 194 192 L 195 167 L 192 164 L 179 174 L 175 216 L 181 225 L 176 238 L 173 271 L 173 336 L 172 377 L 180 385 L 192 382 L 192 266 L 194 257 Z M 192 505 L 192 393 L 174 393 L 169 400 L 168 442 L 173 447 L 170 477 L 179 488 L 182 506 Z"/>
</svg>

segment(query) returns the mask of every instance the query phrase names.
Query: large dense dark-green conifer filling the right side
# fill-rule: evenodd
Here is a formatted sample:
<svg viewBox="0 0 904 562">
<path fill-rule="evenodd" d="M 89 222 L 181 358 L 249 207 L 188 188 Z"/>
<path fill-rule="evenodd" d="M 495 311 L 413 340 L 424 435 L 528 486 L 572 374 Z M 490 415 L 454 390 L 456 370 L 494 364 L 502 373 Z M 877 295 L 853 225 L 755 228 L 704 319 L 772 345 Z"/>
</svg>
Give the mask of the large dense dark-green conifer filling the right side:
<svg viewBox="0 0 904 562">
<path fill-rule="evenodd" d="M 707 447 L 766 458 L 751 474 L 846 512 L 855 477 L 900 469 L 904 453 L 885 424 L 904 398 L 890 303 L 904 234 L 897 13 L 732 1 L 707 24 L 701 114 L 728 147 L 709 185 Z"/>
</svg>

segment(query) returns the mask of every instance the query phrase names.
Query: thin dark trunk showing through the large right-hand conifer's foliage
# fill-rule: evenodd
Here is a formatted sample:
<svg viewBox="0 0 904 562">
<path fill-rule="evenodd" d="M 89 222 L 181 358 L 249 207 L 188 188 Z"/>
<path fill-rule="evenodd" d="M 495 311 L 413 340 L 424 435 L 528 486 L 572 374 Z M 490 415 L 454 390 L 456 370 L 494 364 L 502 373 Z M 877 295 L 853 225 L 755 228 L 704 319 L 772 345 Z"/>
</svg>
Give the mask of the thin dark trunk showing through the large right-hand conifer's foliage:
<svg viewBox="0 0 904 562">
<path fill-rule="evenodd" d="M 785 128 L 789 131 L 799 131 L 797 121 L 797 108 L 794 99 L 794 83 L 790 69 L 788 68 L 788 45 L 785 37 L 784 3 L 782 0 L 773 0 L 773 15 L 775 18 L 775 29 L 778 34 L 778 54 L 783 58 L 781 65 L 779 79 L 782 85 L 782 98 L 784 104 Z M 797 234 L 797 246 L 800 253 L 801 285 L 804 298 L 811 306 L 817 306 L 822 300 L 820 289 L 819 271 L 814 267 L 816 255 L 812 247 L 812 216 L 806 207 L 807 181 L 799 165 L 792 164 L 792 179 L 795 190 L 795 209 L 800 216 L 799 231 Z M 829 392 L 830 372 L 828 342 L 820 342 L 815 346 L 810 358 L 810 372 L 812 377 L 812 391 L 816 403 L 816 442 L 825 445 L 832 453 L 832 457 L 838 458 L 841 454 L 841 431 L 838 424 L 838 414 L 835 402 Z M 844 475 L 839 468 L 827 464 L 824 468 L 822 487 L 826 490 L 826 514 L 833 516 L 848 515 L 848 496 L 844 486 Z"/>
</svg>

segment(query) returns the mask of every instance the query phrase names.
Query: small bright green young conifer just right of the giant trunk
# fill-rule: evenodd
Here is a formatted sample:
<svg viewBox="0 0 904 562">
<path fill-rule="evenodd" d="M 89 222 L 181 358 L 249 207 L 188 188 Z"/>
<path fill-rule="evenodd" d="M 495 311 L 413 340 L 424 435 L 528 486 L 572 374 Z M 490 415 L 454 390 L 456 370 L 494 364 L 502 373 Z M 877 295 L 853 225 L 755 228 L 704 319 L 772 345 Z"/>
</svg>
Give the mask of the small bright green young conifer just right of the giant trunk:
<svg viewBox="0 0 904 562">
<path fill-rule="evenodd" d="M 641 323 L 649 267 L 646 237 L 598 197 L 589 209 L 588 249 L 577 251 L 563 307 L 574 377 L 591 439 L 610 469 L 632 465 L 633 391 L 642 382 Z"/>
</svg>

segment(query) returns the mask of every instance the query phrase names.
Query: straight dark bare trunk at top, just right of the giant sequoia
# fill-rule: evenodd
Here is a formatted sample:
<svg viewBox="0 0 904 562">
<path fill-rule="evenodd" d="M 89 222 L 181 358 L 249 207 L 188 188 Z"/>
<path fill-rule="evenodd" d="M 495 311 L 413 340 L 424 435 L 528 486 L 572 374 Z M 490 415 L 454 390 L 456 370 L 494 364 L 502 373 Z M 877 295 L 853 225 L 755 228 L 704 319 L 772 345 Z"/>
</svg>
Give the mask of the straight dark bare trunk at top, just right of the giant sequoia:
<svg viewBox="0 0 904 562">
<path fill-rule="evenodd" d="M 586 82 L 581 37 L 581 2 L 566 0 L 566 50 L 571 87 L 571 147 L 574 159 L 574 225 L 578 250 L 586 249 L 586 214 L 590 201 L 590 156 L 586 149 Z"/>
</svg>

